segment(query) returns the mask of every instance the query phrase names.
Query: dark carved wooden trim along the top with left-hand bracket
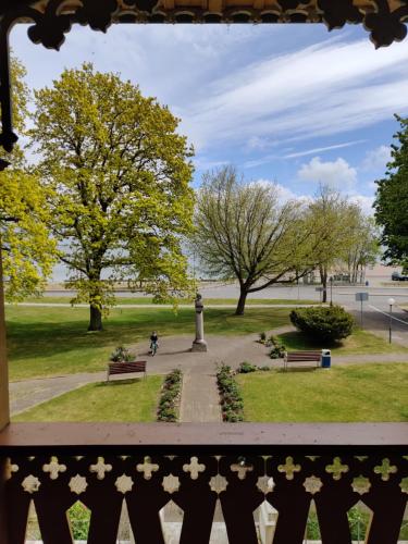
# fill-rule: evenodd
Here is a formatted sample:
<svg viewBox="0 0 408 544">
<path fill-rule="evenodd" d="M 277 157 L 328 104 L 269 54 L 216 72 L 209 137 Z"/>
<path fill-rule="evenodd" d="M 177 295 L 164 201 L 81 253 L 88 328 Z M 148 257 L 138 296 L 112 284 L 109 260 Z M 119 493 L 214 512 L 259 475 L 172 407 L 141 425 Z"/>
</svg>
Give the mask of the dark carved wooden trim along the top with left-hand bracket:
<svg viewBox="0 0 408 544">
<path fill-rule="evenodd" d="M 0 4 L 0 146 L 11 151 L 13 132 L 8 36 L 18 21 L 33 22 L 35 44 L 59 49 L 72 23 L 106 32 L 112 23 L 255 22 L 325 23 L 329 29 L 362 23 L 375 47 L 407 35 L 408 0 L 15 0 Z M 7 161 L 0 162 L 0 169 Z"/>
</svg>

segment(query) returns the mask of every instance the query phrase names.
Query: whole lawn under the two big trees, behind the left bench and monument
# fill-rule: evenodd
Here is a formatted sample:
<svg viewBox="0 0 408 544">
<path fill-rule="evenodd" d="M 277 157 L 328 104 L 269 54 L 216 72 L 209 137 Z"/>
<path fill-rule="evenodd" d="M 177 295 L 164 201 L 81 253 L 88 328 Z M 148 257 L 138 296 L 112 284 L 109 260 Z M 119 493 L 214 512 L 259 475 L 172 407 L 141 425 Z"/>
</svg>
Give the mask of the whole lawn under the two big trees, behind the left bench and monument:
<svg viewBox="0 0 408 544">
<path fill-rule="evenodd" d="M 112 350 L 121 345 L 159 336 L 195 331 L 194 309 L 114 309 L 104 331 L 87 333 L 86 308 L 8 306 L 7 330 L 10 380 L 94 372 L 104 370 Z M 288 324 L 289 309 L 254 308 L 237 317 L 231 309 L 209 308 L 206 334 L 248 334 Z"/>
</svg>

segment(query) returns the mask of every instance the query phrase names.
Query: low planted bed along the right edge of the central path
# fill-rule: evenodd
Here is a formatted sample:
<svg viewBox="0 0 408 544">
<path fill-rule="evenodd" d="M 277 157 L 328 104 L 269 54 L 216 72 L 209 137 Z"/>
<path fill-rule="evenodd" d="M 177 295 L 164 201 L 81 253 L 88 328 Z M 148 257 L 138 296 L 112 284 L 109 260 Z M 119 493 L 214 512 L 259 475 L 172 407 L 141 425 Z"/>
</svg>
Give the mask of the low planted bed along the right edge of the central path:
<svg viewBox="0 0 408 544">
<path fill-rule="evenodd" d="M 249 364 L 249 363 L 243 363 Z M 222 363 L 217 370 L 217 383 L 221 396 L 222 419 L 230 423 L 244 421 L 244 400 L 238 384 L 234 380 L 234 371 Z"/>
</svg>

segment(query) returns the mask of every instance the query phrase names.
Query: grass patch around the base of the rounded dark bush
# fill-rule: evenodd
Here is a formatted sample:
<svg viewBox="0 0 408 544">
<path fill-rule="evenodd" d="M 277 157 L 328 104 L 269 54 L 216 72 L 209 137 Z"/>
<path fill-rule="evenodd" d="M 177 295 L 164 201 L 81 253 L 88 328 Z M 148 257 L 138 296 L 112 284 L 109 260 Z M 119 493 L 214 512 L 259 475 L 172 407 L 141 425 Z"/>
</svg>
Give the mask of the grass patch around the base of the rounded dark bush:
<svg viewBox="0 0 408 544">
<path fill-rule="evenodd" d="M 364 355 L 364 354 L 395 354 L 408 351 L 399 344 L 388 344 L 380 336 L 375 336 L 362 329 L 355 327 L 351 336 L 336 344 L 323 344 L 313 342 L 306 334 L 294 331 L 280 334 L 279 338 L 285 345 L 288 351 L 302 349 L 330 348 L 335 355 Z"/>
</svg>

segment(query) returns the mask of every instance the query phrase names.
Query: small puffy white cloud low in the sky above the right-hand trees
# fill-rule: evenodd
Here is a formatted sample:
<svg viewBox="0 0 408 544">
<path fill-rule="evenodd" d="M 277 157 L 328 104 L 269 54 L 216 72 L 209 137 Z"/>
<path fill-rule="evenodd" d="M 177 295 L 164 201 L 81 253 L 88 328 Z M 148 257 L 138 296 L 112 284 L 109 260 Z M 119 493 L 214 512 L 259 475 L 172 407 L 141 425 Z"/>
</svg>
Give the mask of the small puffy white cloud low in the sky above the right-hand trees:
<svg viewBox="0 0 408 544">
<path fill-rule="evenodd" d="M 320 157 L 313 157 L 310 162 L 301 165 L 297 175 L 306 182 L 317 182 L 343 190 L 351 188 L 357 181 L 356 169 L 342 158 L 323 162 Z"/>
</svg>

